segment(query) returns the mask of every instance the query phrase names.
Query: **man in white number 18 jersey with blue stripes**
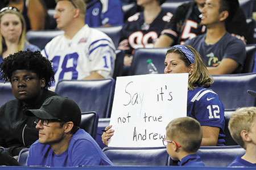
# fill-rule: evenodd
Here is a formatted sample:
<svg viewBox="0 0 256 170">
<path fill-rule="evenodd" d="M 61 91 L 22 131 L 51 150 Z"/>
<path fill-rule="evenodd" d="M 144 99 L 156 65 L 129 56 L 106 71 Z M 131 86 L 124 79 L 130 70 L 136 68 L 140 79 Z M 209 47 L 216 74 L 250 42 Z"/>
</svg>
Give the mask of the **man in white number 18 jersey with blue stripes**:
<svg viewBox="0 0 256 170">
<path fill-rule="evenodd" d="M 62 79 L 111 78 L 115 48 L 110 37 L 85 25 L 84 0 L 56 0 L 53 16 L 63 35 L 53 38 L 42 50 L 52 61 L 55 88 Z"/>
</svg>

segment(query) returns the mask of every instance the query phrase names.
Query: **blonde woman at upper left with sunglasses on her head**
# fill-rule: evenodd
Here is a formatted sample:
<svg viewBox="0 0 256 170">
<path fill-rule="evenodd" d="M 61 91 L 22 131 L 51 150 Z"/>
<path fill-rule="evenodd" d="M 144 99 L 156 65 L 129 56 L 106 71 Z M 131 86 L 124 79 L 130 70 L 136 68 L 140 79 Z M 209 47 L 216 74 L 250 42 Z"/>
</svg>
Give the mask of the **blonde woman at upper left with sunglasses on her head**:
<svg viewBox="0 0 256 170">
<path fill-rule="evenodd" d="M 0 63 L 19 50 L 40 50 L 26 40 L 26 22 L 15 7 L 0 10 L 0 42 Z"/>
</svg>

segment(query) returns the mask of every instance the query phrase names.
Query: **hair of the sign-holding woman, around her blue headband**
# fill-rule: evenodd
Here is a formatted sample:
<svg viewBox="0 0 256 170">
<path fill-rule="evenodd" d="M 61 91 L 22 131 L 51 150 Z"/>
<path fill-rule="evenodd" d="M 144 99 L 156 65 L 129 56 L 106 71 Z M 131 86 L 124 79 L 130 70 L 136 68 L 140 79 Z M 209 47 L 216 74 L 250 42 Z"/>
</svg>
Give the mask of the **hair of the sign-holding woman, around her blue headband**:
<svg viewBox="0 0 256 170">
<path fill-rule="evenodd" d="M 192 63 L 195 68 L 191 75 L 189 75 L 188 78 L 188 89 L 193 90 L 197 87 L 205 87 L 209 88 L 210 84 L 213 83 L 212 75 L 210 75 L 207 67 L 205 66 L 204 62 L 202 61 L 200 54 L 190 45 L 184 45 L 188 49 L 191 50 L 191 52 L 195 55 L 195 63 Z M 183 52 L 181 52 L 180 49 L 177 48 L 171 48 L 167 50 L 167 54 L 170 53 L 176 53 L 179 54 L 180 59 L 184 61 L 185 65 L 188 67 L 191 65 L 191 62 L 189 62 L 188 58 L 185 56 Z"/>
</svg>

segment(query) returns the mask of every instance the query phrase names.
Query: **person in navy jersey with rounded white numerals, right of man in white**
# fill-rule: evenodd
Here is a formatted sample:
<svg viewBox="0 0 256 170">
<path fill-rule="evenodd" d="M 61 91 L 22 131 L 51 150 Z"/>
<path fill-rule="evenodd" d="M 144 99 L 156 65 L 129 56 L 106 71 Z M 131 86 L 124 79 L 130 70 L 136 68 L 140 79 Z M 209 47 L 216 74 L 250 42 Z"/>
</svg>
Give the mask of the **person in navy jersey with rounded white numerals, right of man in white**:
<svg viewBox="0 0 256 170">
<path fill-rule="evenodd" d="M 144 8 L 143 12 L 138 12 L 130 16 L 123 25 L 118 49 L 125 50 L 123 64 L 130 66 L 133 60 L 134 49 L 152 48 L 154 40 L 158 39 L 172 14 L 164 12 L 160 5 L 166 0 L 138 0 L 137 5 Z"/>
</svg>

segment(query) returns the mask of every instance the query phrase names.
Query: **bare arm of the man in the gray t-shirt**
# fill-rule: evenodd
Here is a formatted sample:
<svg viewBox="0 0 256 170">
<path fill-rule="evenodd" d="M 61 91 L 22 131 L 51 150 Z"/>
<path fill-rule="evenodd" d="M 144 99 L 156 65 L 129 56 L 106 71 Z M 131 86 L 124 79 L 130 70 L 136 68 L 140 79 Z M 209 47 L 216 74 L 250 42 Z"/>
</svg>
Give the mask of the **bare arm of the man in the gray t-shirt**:
<svg viewBox="0 0 256 170">
<path fill-rule="evenodd" d="M 237 69 L 239 63 L 231 58 L 223 58 L 217 67 L 207 67 L 210 74 L 231 74 Z"/>
</svg>

